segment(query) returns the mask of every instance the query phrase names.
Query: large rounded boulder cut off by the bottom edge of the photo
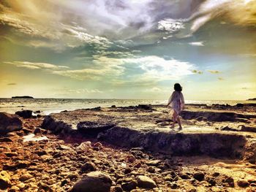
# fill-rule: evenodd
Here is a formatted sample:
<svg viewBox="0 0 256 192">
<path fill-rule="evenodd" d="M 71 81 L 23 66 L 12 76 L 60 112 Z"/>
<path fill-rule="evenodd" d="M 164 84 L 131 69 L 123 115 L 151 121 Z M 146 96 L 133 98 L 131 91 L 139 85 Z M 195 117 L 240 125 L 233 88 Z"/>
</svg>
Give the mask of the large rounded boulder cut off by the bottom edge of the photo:
<svg viewBox="0 0 256 192">
<path fill-rule="evenodd" d="M 72 192 L 109 192 L 112 180 L 108 174 L 102 172 L 90 172 L 82 180 L 79 180 L 72 188 Z"/>
</svg>

